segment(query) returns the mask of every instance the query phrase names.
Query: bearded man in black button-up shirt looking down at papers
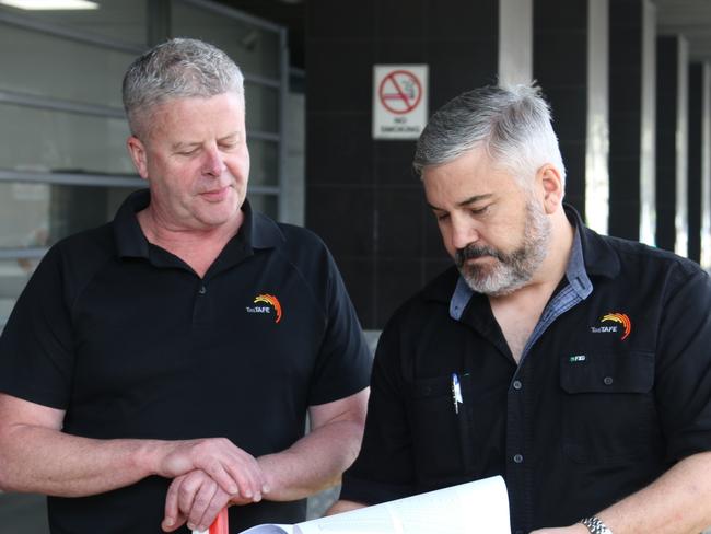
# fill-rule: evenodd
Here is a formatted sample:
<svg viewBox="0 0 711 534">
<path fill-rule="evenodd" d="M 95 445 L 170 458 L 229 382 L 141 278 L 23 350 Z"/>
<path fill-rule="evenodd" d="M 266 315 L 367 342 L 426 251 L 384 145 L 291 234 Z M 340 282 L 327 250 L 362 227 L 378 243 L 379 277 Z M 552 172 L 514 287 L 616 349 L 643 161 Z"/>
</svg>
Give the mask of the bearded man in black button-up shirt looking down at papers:
<svg viewBox="0 0 711 534">
<path fill-rule="evenodd" d="M 562 204 L 535 86 L 454 98 L 415 169 L 456 268 L 386 325 L 331 512 L 502 475 L 513 533 L 710 525 L 707 274 Z"/>
</svg>

